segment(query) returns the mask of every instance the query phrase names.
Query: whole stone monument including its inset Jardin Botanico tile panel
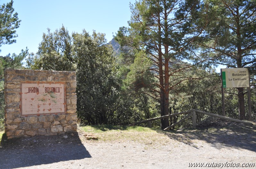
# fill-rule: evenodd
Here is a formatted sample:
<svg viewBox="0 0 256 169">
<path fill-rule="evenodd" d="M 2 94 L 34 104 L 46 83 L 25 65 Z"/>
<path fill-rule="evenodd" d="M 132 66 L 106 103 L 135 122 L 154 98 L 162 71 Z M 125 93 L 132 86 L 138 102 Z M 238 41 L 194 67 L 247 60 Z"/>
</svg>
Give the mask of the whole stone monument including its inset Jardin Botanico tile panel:
<svg viewBox="0 0 256 169">
<path fill-rule="evenodd" d="M 77 130 L 76 72 L 4 71 L 7 138 Z"/>
</svg>

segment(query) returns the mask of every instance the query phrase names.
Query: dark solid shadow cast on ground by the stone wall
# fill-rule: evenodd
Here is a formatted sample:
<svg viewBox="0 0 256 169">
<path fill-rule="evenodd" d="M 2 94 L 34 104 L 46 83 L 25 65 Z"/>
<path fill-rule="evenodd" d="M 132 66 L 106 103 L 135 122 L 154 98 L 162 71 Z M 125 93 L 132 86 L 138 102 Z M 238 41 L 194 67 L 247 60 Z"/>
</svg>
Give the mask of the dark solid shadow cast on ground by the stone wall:
<svg viewBox="0 0 256 169">
<path fill-rule="evenodd" d="M 0 168 L 19 168 L 91 158 L 77 132 L 57 136 L 22 137 L 8 141 L 3 137 L 1 146 Z"/>
</svg>

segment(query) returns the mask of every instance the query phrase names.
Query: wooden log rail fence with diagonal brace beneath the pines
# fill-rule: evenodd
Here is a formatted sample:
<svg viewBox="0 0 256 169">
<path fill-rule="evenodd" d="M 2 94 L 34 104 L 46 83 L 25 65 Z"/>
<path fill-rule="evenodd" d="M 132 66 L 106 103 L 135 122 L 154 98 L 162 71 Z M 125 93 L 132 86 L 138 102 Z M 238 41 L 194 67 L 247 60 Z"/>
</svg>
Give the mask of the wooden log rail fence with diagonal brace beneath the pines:
<svg viewBox="0 0 256 169">
<path fill-rule="evenodd" d="M 141 123 L 145 123 L 145 122 L 148 122 L 149 126 L 150 126 L 151 125 L 151 121 L 154 121 L 154 120 L 169 118 L 169 117 L 173 117 L 173 116 L 180 115 L 180 114 L 187 114 L 182 119 L 180 119 L 180 121 L 177 121 L 176 123 L 174 123 L 174 124 L 170 125 L 169 127 L 165 128 L 164 130 L 168 130 L 168 129 L 176 126 L 177 124 L 179 124 L 182 121 L 186 120 L 190 116 L 193 116 L 193 128 L 196 128 L 196 113 L 206 114 L 206 115 L 210 115 L 210 116 L 213 116 L 213 117 L 218 117 L 218 118 L 221 118 L 221 119 L 225 119 L 225 120 L 228 120 L 228 121 L 244 123 L 246 125 L 252 125 L 252 123 L 249 122 L 249 121 L 237 120 L 237 119 L 233 119 L 233 118 L 222 116 L 222 115 L 218 115 L 218 114 L 213 114 L 213 113 L 208 113 L 208 112 L 203 112 L 203 111 L 200 111 L 200 110 L 192 109 L 192 110 L 189 110 L 189 111 L 186 111 L 186 112 L 180 112 L 180 113 L 175 113 L 175 114 L 168 114 L 168 115 L 161 116 L 161 117 L 155 117 L 155 118 L 152 118 L 152 119 L 147 119 L 147 120 L 143 120 L 143 121 L 139 121 L 139 122 L 134 122 L 134 123 L 130 124 L 130 126 L 135 126 L 137 124 L 141 124 Z"/>
</svg>

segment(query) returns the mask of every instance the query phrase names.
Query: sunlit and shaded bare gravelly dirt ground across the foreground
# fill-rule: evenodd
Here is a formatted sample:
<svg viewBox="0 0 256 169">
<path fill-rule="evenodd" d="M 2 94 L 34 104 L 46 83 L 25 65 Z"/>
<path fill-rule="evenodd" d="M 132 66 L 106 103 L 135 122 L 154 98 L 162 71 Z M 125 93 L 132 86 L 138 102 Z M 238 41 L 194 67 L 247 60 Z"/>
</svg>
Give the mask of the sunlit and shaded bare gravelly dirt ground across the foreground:
<svg viewBox="0 0 256 169">
<path fill-rule="evenodd" d="M 225 122 L 211 128 L 163 132 L 159 135 L 161 142 L 155 138 L 150 142 L 128 138 L 87 140 L 86 133 L 80 130 L 57 136 L 22 137 L 8 143 L 2 139 L 0 169 L 176 169 L 189 168 L 189 163 L 256 163 L 255 124 Z"/>
</svg>

